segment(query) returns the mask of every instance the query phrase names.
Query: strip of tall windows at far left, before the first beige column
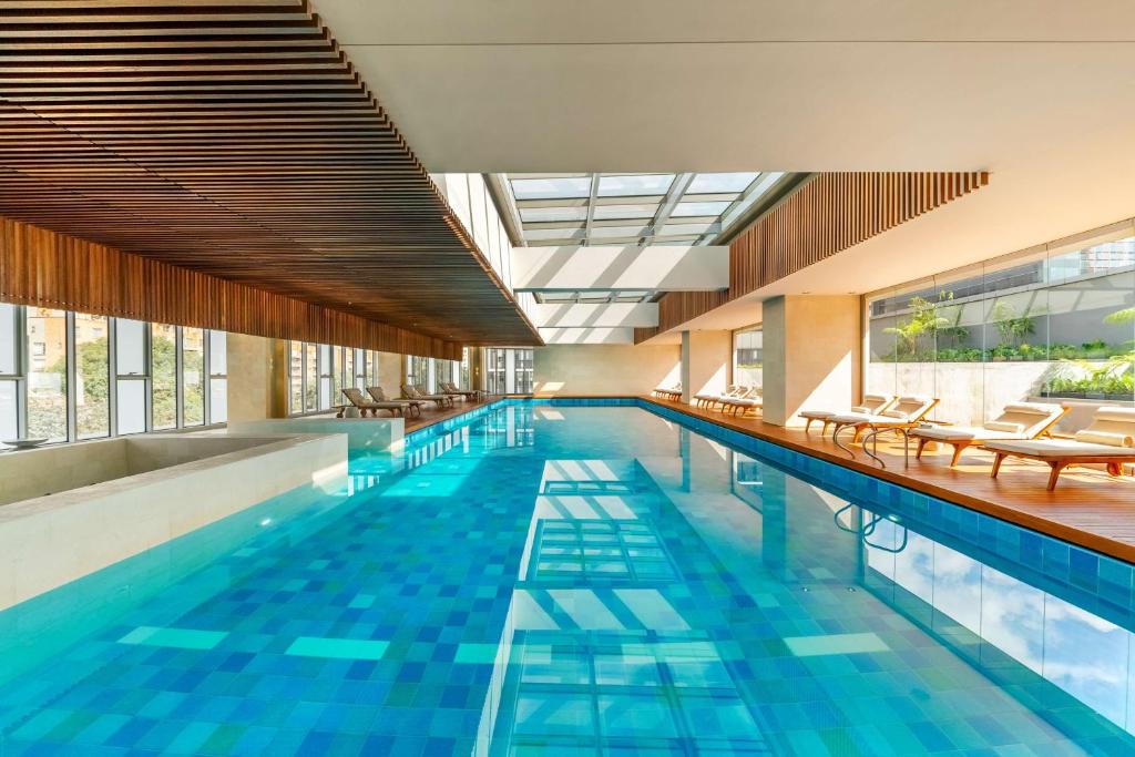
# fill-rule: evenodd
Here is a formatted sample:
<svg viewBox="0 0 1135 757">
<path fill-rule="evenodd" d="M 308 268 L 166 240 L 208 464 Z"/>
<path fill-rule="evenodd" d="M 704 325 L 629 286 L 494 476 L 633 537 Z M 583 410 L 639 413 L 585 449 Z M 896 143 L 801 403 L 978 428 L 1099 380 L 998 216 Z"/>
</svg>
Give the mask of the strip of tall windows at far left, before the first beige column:
<svg viewBox="0 0 1135 757">
<path fill-rule="evenodd" d="M 225 344 L 222 331 L 0 303 L 0 439 L 224 422 L 227 403 L 205 393 L 227 388 Z"/>
</svg>

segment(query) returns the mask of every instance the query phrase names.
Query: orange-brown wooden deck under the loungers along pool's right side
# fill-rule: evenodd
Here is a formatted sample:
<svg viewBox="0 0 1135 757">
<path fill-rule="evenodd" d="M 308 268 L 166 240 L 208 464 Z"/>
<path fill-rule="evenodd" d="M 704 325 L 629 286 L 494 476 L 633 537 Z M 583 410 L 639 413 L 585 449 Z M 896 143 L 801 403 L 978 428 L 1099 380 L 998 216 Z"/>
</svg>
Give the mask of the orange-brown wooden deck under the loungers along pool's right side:
<svg viewBox="0 0 1135 757">
<path fill-rule="evenodd" d="M 765 423 L 759 418 L 733 418 L 680 402 L 642 397 L 663 407 L 703 418 L 721 426 L 783 445 L 829 462 L 876 476 L 947 502 L 1054 536 L 1107 555 L 1135 562 L 1135 478 L 1111 478 L 1102 468 L 1075 468 L 1060 477 L 1056 491 L 1045 491 L 1049 466 L 1043 463 L 1006 461 L 998 478 L 990 478 L 993 455 L 966 449 L 957 468 L 949 468 L 950 448 L 927 447 L 923 460 L 903 465 L 902 443 L 894 435 L 880 440 L 881 469 L 858 446 L 855 457 L 836 447 L 831 435 L 822 437 L 817 426 L 810 434 Z M 844 436 L 847 438 L 844 438 Z M 850 434 L 841 435 L 847 443 Z"/>
</svg>

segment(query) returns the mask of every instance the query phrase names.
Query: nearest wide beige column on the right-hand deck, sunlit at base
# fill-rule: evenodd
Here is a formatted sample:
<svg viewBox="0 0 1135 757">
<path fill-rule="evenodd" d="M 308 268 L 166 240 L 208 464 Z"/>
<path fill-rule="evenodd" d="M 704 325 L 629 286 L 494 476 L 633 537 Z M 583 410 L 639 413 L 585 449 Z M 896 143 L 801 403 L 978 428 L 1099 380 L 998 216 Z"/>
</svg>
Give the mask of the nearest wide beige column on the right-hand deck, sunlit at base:
<svg viewBox="0 0 1135 757">
<path fill-rule="evenodd" d="M 809 407 L 843 409 L 861 384 L 859 297 L 787 295 L 764 303 L 764 420 L 802 426 Z"/>
</svg>

